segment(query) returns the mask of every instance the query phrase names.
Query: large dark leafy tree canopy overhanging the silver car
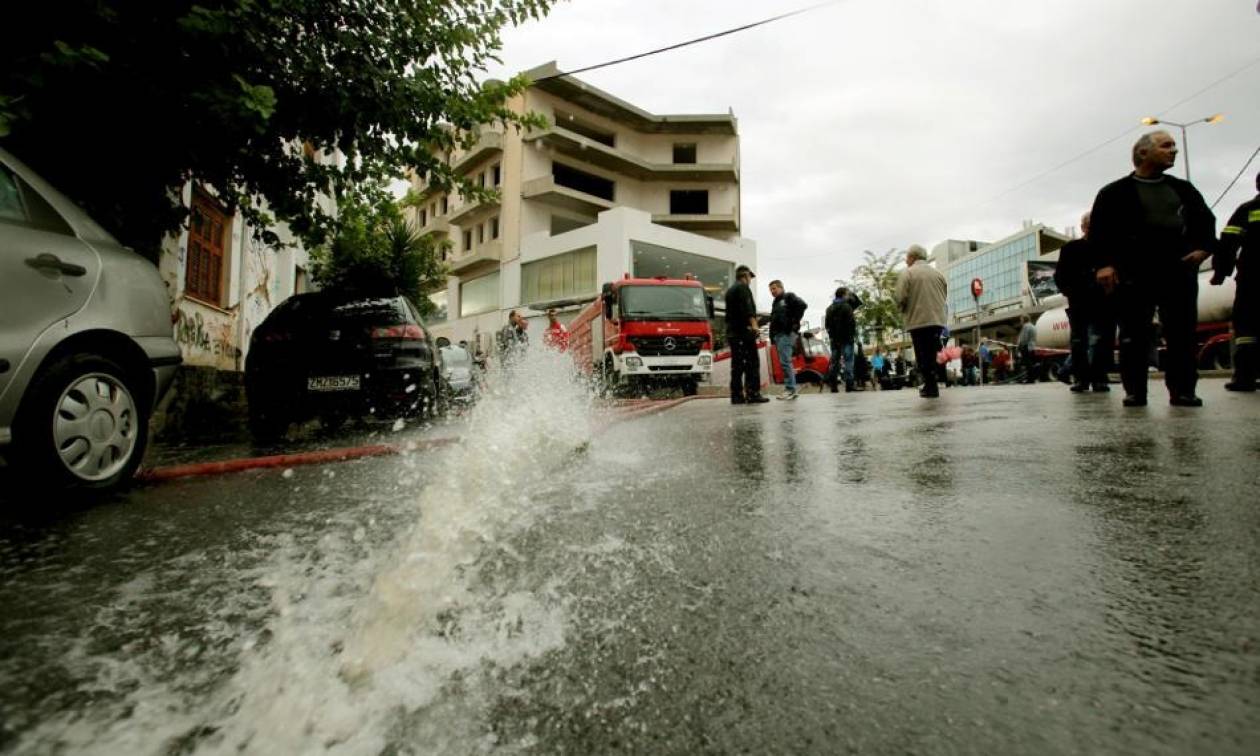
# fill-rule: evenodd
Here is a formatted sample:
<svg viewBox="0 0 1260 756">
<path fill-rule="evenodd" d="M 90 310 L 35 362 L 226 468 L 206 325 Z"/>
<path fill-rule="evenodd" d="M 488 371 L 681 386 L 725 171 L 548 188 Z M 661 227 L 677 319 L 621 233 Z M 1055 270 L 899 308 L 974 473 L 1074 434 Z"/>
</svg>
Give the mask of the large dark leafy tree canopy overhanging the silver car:
<svg viewBox="0 0 1260 756">
<path fill-rule="evenodd" d="M 509 107 L 523 78 L 478 79 L 500 29 L 554 1 L 28 4 L 5 14 L 0 137 L 137 249 L 179 228 L 190 179 L 256 228 L 275 217 L 315 247 L 335 228 L 320 195 L 407 169 L 485 193 L 433 151 L 469 146 L 480 123 L 534 121 Z"/>
</svg>

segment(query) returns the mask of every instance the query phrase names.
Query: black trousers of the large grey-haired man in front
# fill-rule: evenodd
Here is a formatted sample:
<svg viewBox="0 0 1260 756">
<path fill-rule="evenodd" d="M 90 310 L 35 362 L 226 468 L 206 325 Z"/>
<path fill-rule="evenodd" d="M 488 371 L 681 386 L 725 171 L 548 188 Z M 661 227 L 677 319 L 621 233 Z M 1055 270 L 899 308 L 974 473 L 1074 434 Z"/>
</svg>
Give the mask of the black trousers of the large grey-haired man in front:
<svg viewBox="0 0 1260 756">
<path fill-rule="evenodd" d="M 1164 383 L 1169 397 L 1193 396 L 1198 383 L 1194 326 L 1198 323 L 1198 272 L 1189 266 L 1159 268 L 1120 285 L 1120 378 L 1124 392 L 1147 396 L 1147 368 L 1159 312 L 1164 336 Z"/>
</svg>

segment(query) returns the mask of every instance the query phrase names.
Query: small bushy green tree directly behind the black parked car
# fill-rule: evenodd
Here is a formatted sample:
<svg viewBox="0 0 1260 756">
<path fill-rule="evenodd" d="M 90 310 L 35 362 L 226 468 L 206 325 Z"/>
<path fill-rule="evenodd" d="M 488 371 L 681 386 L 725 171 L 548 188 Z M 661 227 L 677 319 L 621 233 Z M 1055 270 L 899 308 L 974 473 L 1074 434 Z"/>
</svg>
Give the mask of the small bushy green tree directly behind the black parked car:
<svg viewBox="0 0 1260 756">
<path fill-rule="evenodd" d="M 446 285 L 442 251 L 449 242 L 422 234 L 384 192 L 368 200 L 343 199 L 331 241 L 311 251 L 311 277 L 325 290 L 407 296 L 430 315 L 428 295 Z"/>
</svg>

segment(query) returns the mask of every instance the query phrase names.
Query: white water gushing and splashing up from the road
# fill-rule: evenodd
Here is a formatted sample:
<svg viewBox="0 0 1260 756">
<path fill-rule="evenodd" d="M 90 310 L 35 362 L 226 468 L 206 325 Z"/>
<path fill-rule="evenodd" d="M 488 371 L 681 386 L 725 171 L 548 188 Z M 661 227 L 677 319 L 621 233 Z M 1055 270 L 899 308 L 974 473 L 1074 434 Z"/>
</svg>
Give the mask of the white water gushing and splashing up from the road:
<svg viewBox="0 0 1260 756">
<path fill-rule="evenodd" d="M 510 537 L 553 504 L 547 488 L 586 449 L 593 412 L 570 357 L 547 349 L 498 368 L 489 386 L 459 444 L 404 457 L 403 480 L 418 470 L 423 488 L 391 548 L 374 552 L 350 525 L 315 548 L 271 544 L 252 576 L 270 593 L 263 629 L 237 644 L 229 678 L 189 694 L 154 673 L 125 714 L 47 721 L 24 745 L 379 753 L 401 737 L 421 752 L 514 750 L 486 735 L 493 690 L 478 673 L 561 648 L 566 597 L 557 586 L 480 585 L 478 571 L 520 559 Z"/>
</svg>

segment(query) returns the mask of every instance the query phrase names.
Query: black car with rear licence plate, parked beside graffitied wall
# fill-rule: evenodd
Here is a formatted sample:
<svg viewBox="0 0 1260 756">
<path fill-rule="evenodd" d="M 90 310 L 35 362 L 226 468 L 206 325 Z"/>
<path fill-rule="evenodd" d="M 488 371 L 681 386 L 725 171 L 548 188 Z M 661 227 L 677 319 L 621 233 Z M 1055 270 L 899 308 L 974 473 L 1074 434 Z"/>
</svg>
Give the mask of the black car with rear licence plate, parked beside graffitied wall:
<svg viewBox="0 0 1260 756">
<path fill-rule="evenodd" d="M 299 294 L 253 331 L 244 365 L 249 430 L 273 441 L 295 421 L 433 415 L 441 352 L 402 296 Z"/>
</svg>

